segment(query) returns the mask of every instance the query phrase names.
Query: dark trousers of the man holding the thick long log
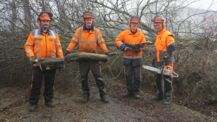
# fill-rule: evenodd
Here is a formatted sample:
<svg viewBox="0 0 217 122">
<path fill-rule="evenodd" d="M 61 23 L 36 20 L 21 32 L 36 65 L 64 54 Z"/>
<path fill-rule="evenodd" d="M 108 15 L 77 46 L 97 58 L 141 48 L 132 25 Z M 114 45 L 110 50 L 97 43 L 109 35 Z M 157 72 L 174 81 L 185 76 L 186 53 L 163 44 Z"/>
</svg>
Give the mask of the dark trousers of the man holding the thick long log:
<svg viewBox="0 0 217 122">
<path fill-rule="evenodd" d="M 101 74 L 101 67 L 98 61 L 79 61 L 81 84 L 84 95 L 89 96 L 88 87 L 88 73 L 91 70 L 95 80 L 96 85 L 99 89 L 100 96 L 105 95 L 105 84 Z"/>
</svg>

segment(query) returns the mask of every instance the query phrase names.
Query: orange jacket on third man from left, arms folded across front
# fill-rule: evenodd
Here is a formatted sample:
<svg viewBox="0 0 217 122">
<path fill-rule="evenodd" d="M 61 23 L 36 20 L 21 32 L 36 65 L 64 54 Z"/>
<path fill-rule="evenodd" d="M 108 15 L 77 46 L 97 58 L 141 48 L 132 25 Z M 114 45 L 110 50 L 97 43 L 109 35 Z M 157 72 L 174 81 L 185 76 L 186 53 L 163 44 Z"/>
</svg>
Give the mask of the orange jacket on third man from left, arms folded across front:
<svg viewBox="0 0 217 122">
<path fill-rule="evenodd" d="M 115 45 L 120 48 L 122 44 L 128 44 L 128 45 L 138 45 L 138 44 L 145 44 L 146 39 L 145 35 L 140 29 L 137 29 L 137 32 L 133 34 L 130 29 L 127 29 L 123 32 L 121 32 L 117 38 L 115 39 Z M 145 49 L 145 45 L 142 48 L 142 50 Z M 142 58 L 142 50 L 139 52 L 133 52 L 131 50 L 127 50 L 123 52 L 123 57 L 128 59 L 136 59 L 136 58 Z"/>
</svg>

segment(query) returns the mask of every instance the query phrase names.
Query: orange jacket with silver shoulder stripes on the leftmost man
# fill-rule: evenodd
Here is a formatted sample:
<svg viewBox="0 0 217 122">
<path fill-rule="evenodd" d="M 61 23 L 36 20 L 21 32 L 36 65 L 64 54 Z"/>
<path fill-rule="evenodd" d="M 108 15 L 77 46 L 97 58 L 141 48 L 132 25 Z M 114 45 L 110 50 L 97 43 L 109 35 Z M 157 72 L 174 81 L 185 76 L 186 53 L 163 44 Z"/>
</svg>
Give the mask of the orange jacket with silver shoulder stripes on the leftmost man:
<svg viewBox="0 0 217 122">
<path fill-rule="evenodd" d="M 64 58 L 59 36 L 49 30 L 47 34 L 36 29 L 29 34 L 24 45 L 27 57 Z"/>
</svg>

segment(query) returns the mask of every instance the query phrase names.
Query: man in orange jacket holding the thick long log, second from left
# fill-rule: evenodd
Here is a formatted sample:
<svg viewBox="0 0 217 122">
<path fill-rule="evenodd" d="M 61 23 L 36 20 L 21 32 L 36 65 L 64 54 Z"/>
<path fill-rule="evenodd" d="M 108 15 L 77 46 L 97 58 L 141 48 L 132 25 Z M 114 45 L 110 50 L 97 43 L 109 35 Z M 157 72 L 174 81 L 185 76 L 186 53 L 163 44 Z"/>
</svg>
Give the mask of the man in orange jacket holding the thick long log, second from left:
<svg viewBox="0 0 217 122">
<path fill-rule="evenodd" d="M 108 54 L 105 41 L 101 31 L 94 26 L 94 16 L 92 12 L 84 12 L 84 25 L 76 29 L 68 47 L 67 53 L 71 53 L 75 46 L 78 46 L 78 52 L 99 53 L 99 48 L 104 54 Z M 67 54 L 66 54 L 67 55 Z M 99 61 L 83 60 L 79 61 L 83 103 L 89 100 L 88 73 L 91 70 L 96 80 L 102 102 L 107 103 L 108 97 L 105 93 L 105 84 L 101 74 Z"/>
</svg>

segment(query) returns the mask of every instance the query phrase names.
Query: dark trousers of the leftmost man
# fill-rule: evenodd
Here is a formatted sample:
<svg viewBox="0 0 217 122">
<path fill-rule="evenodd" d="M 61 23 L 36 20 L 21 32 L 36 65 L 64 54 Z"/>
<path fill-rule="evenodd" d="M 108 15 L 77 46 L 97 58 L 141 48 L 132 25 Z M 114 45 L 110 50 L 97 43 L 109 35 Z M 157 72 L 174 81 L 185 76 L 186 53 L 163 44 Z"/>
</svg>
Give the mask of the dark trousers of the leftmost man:
<svg viewBox="0 0 217 122">
<path fill-rule="evenodd" d="M 52 102 L 53 87 L 56 70 L 41 71 L 39 67 L 33 67 L 33 81 L 31 84 L 31 92 L 29 102 L 31 105 L 36 105 L 39 100 L 42 80 L 44 78 L 44 99 L 45 102 Z"/>
</svg>

